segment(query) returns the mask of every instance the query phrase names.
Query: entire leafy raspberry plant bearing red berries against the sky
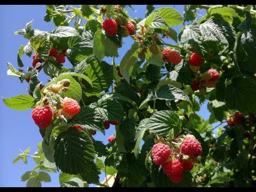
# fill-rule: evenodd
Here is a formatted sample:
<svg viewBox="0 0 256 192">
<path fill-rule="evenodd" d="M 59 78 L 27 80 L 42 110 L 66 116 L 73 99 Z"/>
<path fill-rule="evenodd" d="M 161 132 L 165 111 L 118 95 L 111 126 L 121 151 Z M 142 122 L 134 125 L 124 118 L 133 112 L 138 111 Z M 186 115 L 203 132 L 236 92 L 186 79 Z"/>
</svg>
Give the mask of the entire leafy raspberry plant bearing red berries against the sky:
<svg viewBox="0 0 256 192">
<path fill-rule="evenodd" d="M 7 75 L 28 83 L 28 94 L 3 101 L 32 110 L 42 135 L 33 156 L 28 148 L 13 161 L 37 163 L 21 180 L 40 187 L 58 171 L 61 187 L 104 186 L 102 170 L 116 174 L 113 187 L 255 186 L 255 5 L 185 5 L 183 15 L 147 5 L 145 18 L 126 6 L 46 5 L 55 29 L 30 21 L 15 32 L 28 43 Z M 199 9 L 207 11 L 198 20 Z M 131 48 L 115 63 L 123 46 Z M 207 120 L 196 114 L 203 102 Z M 110 124 L 109 143 L 95 140 Z"/>
</svg>

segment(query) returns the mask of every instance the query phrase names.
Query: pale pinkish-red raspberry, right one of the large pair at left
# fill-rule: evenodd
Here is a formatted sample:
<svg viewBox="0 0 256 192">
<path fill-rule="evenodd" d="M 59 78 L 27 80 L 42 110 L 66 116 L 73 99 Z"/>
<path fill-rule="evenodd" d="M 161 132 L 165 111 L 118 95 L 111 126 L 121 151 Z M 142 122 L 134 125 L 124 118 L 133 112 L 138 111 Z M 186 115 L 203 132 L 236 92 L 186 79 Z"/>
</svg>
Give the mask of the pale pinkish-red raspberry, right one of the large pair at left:
<svg viewBox="0 0 256 192">
<path fill-rule="evenodd" d="M 70 98 L 64 98 L 62 114 L 66 118 L 73 118 L 74 115 L 78 114 L 80 111 L 80 106 L 76 100 Z"/>
</svg>

